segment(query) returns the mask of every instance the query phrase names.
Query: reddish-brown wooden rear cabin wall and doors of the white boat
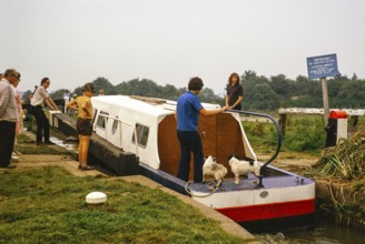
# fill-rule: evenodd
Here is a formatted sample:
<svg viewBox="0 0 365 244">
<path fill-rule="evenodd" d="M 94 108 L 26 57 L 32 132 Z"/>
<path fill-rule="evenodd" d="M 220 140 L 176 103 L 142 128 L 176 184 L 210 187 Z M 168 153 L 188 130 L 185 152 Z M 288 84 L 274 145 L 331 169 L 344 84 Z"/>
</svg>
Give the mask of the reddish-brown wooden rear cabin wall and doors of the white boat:
<svg viewBox="0 0 365 244">
<path fill-rule="evenodd" d="M 229 113 L 214 116 L 199 118 L 198 132 L 201 138 L 204 155 L 217 157 L 217 162 L 224 164 L 228 172 L 228 156 L 237 154 L 245 157 L 244 140 L 239 123 Z M 171 175 L 177 175 L 180 145 L 176 135 L 176 120 L 174 114 L 167 115 L 158 125 L 158 153 L 160 170 Z M 233 176 L 228 173 L 227 177 Z M 190 160 L 189 180 L 194 179 L 194 156 Z"/>
</svg>

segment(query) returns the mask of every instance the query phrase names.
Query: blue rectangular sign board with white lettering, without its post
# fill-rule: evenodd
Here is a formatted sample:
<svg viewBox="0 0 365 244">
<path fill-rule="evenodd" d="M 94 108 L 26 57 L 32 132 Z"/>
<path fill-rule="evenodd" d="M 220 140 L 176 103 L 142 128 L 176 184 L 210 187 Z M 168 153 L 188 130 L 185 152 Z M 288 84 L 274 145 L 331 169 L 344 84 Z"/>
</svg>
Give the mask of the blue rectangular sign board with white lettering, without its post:
<svg viewBox="0 0 365 244">
<path fill-rule="evenodd" d="M 308 78 L 318 79 L 338 74 L 336 54 L 307 58 Z"/>
</svg>

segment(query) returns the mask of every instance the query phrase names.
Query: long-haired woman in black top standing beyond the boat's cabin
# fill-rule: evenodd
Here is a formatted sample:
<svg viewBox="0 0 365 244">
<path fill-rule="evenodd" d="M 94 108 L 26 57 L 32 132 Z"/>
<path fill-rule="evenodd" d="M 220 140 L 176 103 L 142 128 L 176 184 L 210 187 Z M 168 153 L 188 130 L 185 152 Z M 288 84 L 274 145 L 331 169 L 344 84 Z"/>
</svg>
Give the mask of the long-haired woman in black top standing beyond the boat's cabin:
<svg viewBox="0 0 365 244">
<path fill-rule="evenodd" d="M 228 78 L 226 106 L 229 110 L 241 110 L 241 101 L 244 99 L 244 89 L 239 83 L 237 73 L 231 73 Z"/>
</svg>

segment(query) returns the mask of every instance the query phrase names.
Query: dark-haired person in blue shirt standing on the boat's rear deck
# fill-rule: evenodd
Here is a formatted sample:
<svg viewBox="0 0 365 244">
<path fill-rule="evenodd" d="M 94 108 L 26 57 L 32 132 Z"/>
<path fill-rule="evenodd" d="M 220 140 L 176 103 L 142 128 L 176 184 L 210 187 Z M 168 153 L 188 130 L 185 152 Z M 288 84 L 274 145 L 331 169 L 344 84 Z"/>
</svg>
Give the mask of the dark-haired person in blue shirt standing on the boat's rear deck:
<svg viewBox="0 0 365 244">
<path fill-rule="evenodd" d="M 198 94 L 204 83 L 200 78 L 193 78 L 188 91 L 177 100 L 175 118 L 177 121 L 177 138 L 180 142 L 180 160 L 177 177 L 188 181 L 190 171 L 190 154 L 194 154 L 194 182 L 203 181 L 204 152 L 198 133 L 199 114 L 211 116 L 223 113 L 227 106 L 219 110 L 205 110 Z"/>
</svg>

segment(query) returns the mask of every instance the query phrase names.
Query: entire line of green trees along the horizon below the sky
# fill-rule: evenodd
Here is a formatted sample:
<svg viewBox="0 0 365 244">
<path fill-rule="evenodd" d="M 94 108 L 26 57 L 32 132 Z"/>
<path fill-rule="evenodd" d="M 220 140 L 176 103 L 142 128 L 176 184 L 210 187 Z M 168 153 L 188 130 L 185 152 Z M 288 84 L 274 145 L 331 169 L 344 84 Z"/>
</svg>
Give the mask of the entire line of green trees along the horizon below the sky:
<svg viewBox="0 0 365 244">
<path fill-rule="evenodd" d="M 245 71 L 241 74 L 244 87 L 243 109 L 248 111 L 276 111 L 278 108 L 323 108 L 320 81 L 309 80 L 298 75 L 295 80 L 277 74 L 270 78 L 258 75 L 255 71 Z M 142 95 L 177 100 L 187 91 L 186 87 L 176 88 L 172 84 L 159 85 L 149 79 L 132 79 L 117 85 L 106 78 L 97 78 L 92 83 L 96 90 L 103 89 L 106 94 Z M 55 100 L 63 98 L 65 89 L 57 90 L 50 95 Z M 82 87 L 76 88 L 71 93 L 82 94 Z M 28 98 L 27 91 L 23 98 Z M 351 79 L 337 75 L 328 79 L 329 106 L 338 109 L 365 108 L 365 80 L 354 74 Z M 201 102 L 224 105 L 225 98 L 215 94 L 209 88 L 204 88 L 199 94 Z"/>
</svg>

